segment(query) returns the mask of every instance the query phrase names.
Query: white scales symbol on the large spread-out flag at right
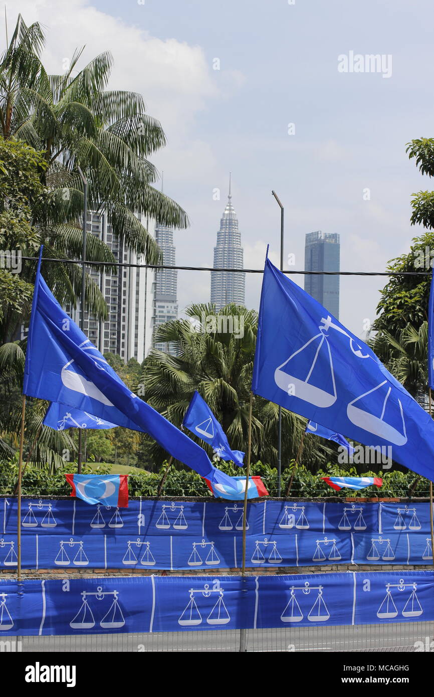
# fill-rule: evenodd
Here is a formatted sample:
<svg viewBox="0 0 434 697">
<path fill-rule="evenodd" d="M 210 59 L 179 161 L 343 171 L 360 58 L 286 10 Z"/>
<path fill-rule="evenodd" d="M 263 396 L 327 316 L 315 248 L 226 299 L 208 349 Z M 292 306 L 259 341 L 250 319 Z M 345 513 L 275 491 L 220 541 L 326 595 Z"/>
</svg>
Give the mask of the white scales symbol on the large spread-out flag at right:
<svg viewBox="0 0 434 697">
<path fill-rule="evenodd" d="M 329 335 L 327 333 L 330 329 L 334 329 L 348 337 L 350 342 L 350 350 L 355 356 L 357 356 L 357 358 L 362 360 L 365 358 L 370 358 L 373 360 L 369 353 L 363 352 L 362 348 L 359 346 L 359 344 L 355 343 L 355 340 L 348 334 L 348 332 L 332 322 L 332 318 L 329 315 L 327 316 L 327 319 L 321 319 L 321 324 L 318 326 L 318 334 L 309 339 L 309 341 L 306 342 L 306 344 L 304 344 L 301 348 L 298 348 L 297 351 L 294 351 L 294 353 L 292 353 L 286 361 L 279 365 L 274 372 L 274 381 L 281 390 L 284 390 L 284 392 L 290 396 L 293 395 L 297 397 L 297 399 L 307 401 L 309 404 L 313 404 L 313 406 L 317 406 L 319 408 L 328 408 L 333 406 L 337 399 L 332 351 L 328 341 Z M 302 351 L 306 350 L 313 351 L 311 367 L 304 378 L 300 376 L 297 377 L 291 373 L 290 362 L 300 353 L 302 353 Z M 318 358 L 320 359 L 319 361 Z M 319 369 L 322 376 L 325 378 L 328 376 L 330 378 L 329 390 L 324 390 L 323 388 L 319 388 L 317 385 L 312 384 L 311 378 L 315 367 L 317 367 L 317 370 Z M 290 388 L 292 390 L 291 392 L 289 392 Z M 382 413 L 379 417 L 375 416 L 369 411 L 366 411 L 366 408 L 362 408 L 362 406 L 356 406 L 359 400 L 363 400 L 376 390 L 383 390 L 383 392 L 385 392 L 385 397 L 382 404 Z M 405 431 L 403 406 L 399 399 L 397 399 L 397 402 L 402 420 L 402 432 L 398 431 L 398 429 L 385 421 L 385 411 L 391 392 L 392 385 L 389 385 L 387 379 L 382 381 L 378 385 L 375 385 L 375 387 L 371 390 L 364 392 L 363 395 L 359 395 L 359 397 L 356 397 L 350 401 L 350 403 L 347 405 L 347 416 L 352 424 L 364 429 L 364 431 L 369 431 L 369 433 L 380 438 L 384 438 L 385 441 L 394 443 L 394 445 L 405 445 L 405 443 L 407 443 L 407 433 Z"/>
</svg>

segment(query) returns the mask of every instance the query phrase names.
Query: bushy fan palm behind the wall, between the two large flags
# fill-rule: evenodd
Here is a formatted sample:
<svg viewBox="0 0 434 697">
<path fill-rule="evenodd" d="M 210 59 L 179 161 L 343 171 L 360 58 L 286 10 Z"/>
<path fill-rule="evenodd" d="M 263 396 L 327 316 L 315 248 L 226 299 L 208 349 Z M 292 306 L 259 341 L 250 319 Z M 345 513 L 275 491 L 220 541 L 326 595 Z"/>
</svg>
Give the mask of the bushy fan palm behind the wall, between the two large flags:
<svg viewBox="0 0 434 697">
<path fill-rule="evenodd" d="M 239 305 L 226 305 L 216 314 L 212 304 L 191 305 L 185 312 L 189 319 L 168 322 L 155 331 L 155 343 L 170 345 L 176 355 L 155 349 L 150 352 L 144 362 L 144 399 L 180 427 L 197 390 L 222 424 L 231 447 L 246 451 L 257 313 Z M 274 466 L 277 463 L 278 413 L 277 404 L 255 398 L 253 461 L 261 459 Z M 282 410 L 283 467 L 295 457 L 305 424 L 297 415 Z M 210 452 L 203 441 L 198 443 Z M 309 438 L 305 443 L 305 461 L 321 457 L 317 440 Z M 158 461 L 164 459 L 157 445 L 153 454 Z"/>
</svg>

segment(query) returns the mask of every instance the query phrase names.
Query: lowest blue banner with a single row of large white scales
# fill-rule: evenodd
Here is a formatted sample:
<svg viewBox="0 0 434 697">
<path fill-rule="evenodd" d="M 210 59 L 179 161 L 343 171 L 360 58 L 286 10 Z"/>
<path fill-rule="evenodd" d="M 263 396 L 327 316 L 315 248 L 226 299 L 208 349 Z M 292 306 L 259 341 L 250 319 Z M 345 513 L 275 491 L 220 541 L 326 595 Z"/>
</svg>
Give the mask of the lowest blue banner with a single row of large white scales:
<svg viewBox="0 0 434 697">
<path fill-rule="evenodd" d="M 23 579 L 20 585 L 0 579 L 0 618 L 1 641 L 7 636 L 433 622 L 434 574 L 79 577 L 68 582 Z"/>
</svg>

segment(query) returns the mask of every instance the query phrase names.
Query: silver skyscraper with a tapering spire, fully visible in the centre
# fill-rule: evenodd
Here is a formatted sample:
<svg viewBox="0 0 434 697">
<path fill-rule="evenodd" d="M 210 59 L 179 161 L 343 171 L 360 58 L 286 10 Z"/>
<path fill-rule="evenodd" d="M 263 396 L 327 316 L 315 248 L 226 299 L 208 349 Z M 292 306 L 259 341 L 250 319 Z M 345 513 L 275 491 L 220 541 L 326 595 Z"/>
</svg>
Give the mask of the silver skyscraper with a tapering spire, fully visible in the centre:
<svg viewBox="0 0 434 697">
<path fill-rule="evenodd" d="M 217 245 L 214 247 L 213 268 L 243 268 L 241 235 L 238 218 L 232 205 L 231 178 L 226 208 L 217 232 Z M 211 271 L 211 302 L 217 310 L 229 302 L 245 304 L 245 274 L 225 271 Z"/>
</svg>

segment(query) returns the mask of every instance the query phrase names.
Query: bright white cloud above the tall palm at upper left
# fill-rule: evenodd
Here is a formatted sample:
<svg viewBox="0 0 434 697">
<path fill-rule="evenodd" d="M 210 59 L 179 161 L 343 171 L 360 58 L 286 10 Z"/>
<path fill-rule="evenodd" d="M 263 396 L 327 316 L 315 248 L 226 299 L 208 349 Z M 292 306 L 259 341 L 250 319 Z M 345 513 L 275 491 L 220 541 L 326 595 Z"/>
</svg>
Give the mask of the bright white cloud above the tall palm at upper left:
<svg viewBox="0 0 434 697">
<path fill-rule="evenodd" d="M 94 8 L 86 0 L 20 0 L 26 24 L 41 22 L 47 39 L 43 61 L 49 72 L 63 72 L 63 61 L 86 45 L 79 68 L 103 51 L 111 51 L 110 87 L 144 95 L 148 111 L 163 128 L 186 132 L 194 114 L 219 94 L 203 49 L 174 38 L 150 36 L 139 26 Z M 8 11 L 10 31 L 17 12 Z"/>
</svg>

